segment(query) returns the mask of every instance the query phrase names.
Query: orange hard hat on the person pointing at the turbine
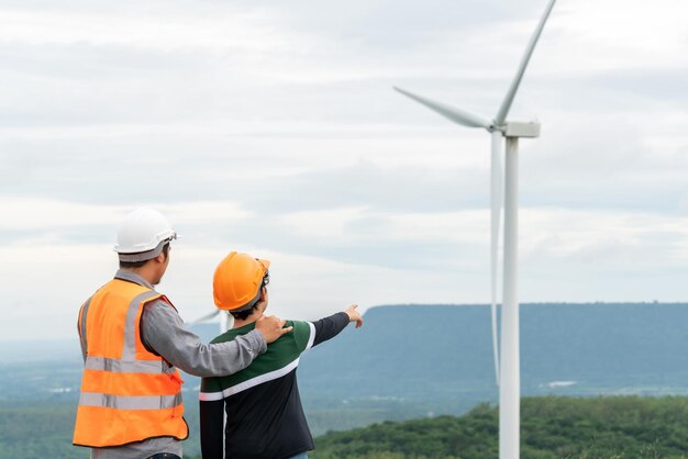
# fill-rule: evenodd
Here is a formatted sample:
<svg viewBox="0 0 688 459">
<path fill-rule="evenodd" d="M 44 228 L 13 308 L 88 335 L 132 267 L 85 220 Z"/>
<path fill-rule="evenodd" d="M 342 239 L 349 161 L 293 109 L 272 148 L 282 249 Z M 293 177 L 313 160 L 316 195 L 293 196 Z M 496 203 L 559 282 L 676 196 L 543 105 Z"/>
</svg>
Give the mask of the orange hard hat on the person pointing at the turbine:
<svg viewBox="0 0 688 459">
<path fill-rule="evenodd" d="M 269 260 L 231 251 L 220 261 L 212 279 L 212 294 L 218 309 L 244 311 L 256 304 L 269 266 Z"/>
</svg>

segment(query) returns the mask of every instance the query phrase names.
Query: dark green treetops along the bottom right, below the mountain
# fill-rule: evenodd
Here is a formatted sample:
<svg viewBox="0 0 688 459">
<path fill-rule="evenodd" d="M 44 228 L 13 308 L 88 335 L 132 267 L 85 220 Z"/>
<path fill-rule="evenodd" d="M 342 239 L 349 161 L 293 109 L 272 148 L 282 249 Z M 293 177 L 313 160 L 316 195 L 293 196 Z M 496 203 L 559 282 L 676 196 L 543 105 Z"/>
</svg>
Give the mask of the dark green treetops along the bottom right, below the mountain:
<svg viewBox="0 0 688 459">
<path fill-rule="evenodd" d="M 499 414 L 479 405 L 462 417 L 386 422 L 330 433 L 312 459 L 498 457 Z M 688 451 L 688 399 L 531 398 L 521 404 L 524 459 L 678 459 Z"/>
</svg>

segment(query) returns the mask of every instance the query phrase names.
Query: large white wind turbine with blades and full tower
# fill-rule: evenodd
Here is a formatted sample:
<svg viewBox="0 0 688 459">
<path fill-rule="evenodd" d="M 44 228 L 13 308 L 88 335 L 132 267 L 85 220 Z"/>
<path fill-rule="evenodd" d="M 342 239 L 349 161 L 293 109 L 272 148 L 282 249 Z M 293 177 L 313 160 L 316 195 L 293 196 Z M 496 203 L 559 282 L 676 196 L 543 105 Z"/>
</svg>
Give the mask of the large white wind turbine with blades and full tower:
<svg viewBox="0 0 688 459">
<path fill-rule="evenodd" d="M 519 337 L 519 302 L 518 302 L 518 156 L 519 138 L 534 138 L 540 135 L 539 123 L 508 122 L 507 115 L 519 89 L 525 67 L 533 54 L 535 44 L 550 16 L 556 0 L 550 0 L 545 12 L 533 33 L 523 54 L 515 77 L 507 91 L 507 96 L 492 121 L 453 107 L 395 88 L 404 96 L 422 103 L 429 109 L 448 117 L 455 123 L 468 127 L 484 127 L 491 134 L 491 312 L 492 312 L 492 347 L 495 355 L 495 372 L 499 384 L 499 458 L 518 459 L 520 457 L 520 415 L 521 415 L 521 361 Z M 497 352 L 497 256 L 499 249 L 500 212 L 502 197 L 501 149 L 502 137 L 507 138 L 506 152 L 506 187 L 504 187 L 504 266 L 503 266 L 503 301 L 501 314 L 501 366 Z"/>
</svg>

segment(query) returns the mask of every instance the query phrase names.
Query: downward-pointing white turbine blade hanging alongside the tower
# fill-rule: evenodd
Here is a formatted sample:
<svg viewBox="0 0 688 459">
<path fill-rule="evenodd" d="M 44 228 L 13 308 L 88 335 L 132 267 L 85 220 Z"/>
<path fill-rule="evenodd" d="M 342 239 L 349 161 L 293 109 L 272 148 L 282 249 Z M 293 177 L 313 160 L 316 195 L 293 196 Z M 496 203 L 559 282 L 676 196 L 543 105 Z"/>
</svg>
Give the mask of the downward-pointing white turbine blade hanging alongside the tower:
<svg viewBox="0 0 688 459">
<path fill-rule="evenodd" d="M 499 255 L 499 228 L 501 219 L 501 197 L 502 197 L 502 135 L 501 132 L 492 132 L 492 157 L 491 157 L 491 179 L 490 179 L 490 271 L 491 271 L 491 300 L 492 300 L 492 354 L 495 360 L 495 378 L 499 385 L 499 343 L 497 338 L 497 277 L 498 277 L 498 255 Z"/>
</svg>

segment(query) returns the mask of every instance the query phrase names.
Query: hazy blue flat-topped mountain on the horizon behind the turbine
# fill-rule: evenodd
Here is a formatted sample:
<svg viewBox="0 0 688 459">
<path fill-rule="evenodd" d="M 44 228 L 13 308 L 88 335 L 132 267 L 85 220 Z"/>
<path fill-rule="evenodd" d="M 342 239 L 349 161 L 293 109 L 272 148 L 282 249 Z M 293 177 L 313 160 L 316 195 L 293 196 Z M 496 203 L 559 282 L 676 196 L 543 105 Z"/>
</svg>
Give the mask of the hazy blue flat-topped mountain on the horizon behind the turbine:
<svg viewBox="0 0 688 459">
<path fill-rule="evenodd" d="M 360 329 L 313 348 L 302 391 L 342 400 L 496 401 L 489 307 L 373 307 Z M 525 395 L 687 393 L 687 304 L 525 304 Z"/>
</svg>

